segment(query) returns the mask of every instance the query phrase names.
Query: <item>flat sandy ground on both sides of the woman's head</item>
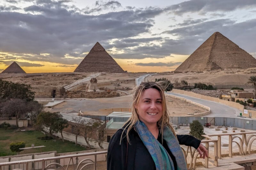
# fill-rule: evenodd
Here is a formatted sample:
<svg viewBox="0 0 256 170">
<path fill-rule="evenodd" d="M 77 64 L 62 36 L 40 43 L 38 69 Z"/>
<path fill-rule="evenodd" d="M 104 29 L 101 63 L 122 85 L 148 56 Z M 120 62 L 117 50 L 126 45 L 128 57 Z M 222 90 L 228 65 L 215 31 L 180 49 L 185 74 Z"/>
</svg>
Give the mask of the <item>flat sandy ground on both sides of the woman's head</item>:
<svg viewBox="0 0 256 170">
<path fill-rule="evenodd" d="M 207 110 L 182 100 L 166 96 L 167 109 L 171 116 L 186 116 L 187 113 L 202 113 Z M 129 112 L 132 105 L 132 95 L 116 98 L 97 99 L 68 99 L 65 102 L 52 108 L 45 108 L 45 111 L 68 113 L 72 110 L 81 111 L 84 114 L 108 115 L 113 111 Z"/>
</svg>

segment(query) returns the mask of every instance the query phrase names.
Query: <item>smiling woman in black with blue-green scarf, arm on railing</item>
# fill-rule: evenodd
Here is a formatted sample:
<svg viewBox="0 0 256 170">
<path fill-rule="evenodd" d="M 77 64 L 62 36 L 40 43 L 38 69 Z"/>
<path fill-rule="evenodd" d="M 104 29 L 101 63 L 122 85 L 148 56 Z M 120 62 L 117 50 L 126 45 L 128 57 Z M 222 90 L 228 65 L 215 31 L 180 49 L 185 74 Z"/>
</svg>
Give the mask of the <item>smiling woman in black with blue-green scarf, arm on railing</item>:
<svg viewBox="0 0 256 170">
<path fill-rule="evenodd" d="M 131 117 L 109 142 L 107 169 L 187 169 L 179 144 L 193 146 L 200 158 L 208 157 L 200 142 L 190 135 L 176 136 L 169 123 L 163 86 L 142 82 L 133 94 Z"/>
</svg>

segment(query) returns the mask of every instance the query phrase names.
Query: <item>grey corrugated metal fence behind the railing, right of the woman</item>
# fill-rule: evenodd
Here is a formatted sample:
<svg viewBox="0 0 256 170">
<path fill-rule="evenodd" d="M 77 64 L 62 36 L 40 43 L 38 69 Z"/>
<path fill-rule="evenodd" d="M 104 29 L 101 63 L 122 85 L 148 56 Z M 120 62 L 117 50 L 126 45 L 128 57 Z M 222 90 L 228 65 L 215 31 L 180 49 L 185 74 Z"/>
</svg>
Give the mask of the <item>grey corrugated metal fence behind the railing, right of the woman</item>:
<svg viewBox="0 0 256 170">
<path fill-rule="evenodd" d="M 230 127 L 236 127 L 236 128 L 242 128 L 242 129 L 251 129 L 256 130 L 256 120 L 244 120 L 244 119 L 238 119 L 238 118 L 228 118 L 228 117 L 170 117 L 170 122 L 172 124 L 189 124 L 192 123 L 193 120 L 198 120 L 202 125 L 204 123 L 208 123 L 209 120 L 213 120 L 214 122 L 211 122 L 212 125 L 215 126 L 230 126 Z"/>
</svg>

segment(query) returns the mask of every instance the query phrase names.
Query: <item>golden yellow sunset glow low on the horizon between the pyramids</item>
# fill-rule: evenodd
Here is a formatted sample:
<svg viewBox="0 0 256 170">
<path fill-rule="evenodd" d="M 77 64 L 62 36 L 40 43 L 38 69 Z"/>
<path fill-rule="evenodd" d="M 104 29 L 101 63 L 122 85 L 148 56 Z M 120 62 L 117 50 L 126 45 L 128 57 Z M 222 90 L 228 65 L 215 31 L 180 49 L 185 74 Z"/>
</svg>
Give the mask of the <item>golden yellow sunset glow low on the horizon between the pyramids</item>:
<svg viewBox="0 0 256 170">
<path fill-rule="evenodd" d="M 5 55 L 10 55 L 9 53 L 0 53 Z M 29 54 L 28 54 L 29 55 Z M 48 54 L 41 54 L 41 55 L 48 55 Z M 13 55 L 19 57 L 17 55 Z M 32 55 L 31 55 L 32 56 Z M 65 58 L 73 58 L 71 56 L 65 55 Z M 144 58 L 144 59 L 114 59 L 117 64 L 123 70 L 127 70 L 128 72 L 166 72 L 166 71 L 173 71 L 175 70 L 179 64 L 174 66 L 140 66 L 136 65 L 136 63 L 177 63 L 183 62 L 188 58 L 188 55 L 172 55 L 167 56 L 164 58 Z M 81 58 L 82 61 L 83 58 Z M 10 61 L 7 58 L 2 59 L 3 61 Z M 61 63 L 54 63 L 54 62 L 41 62 L 41 61 L 29 61 L 29 60 L 12 60 L 17 62 L 27 62 L 27 63 L 34 63 L 34 64 L 42 64 L 44 66 L 41 67 L 26 67 L 21 66 L 21 68 L 26 73 L 43 73 L 43 72 L 73 72 L 78 64 L 61 64 Z M 9 65 L 5 65 L 4 63 L 0 63 L 0 72 L 5 70 Z"/>
</svg>

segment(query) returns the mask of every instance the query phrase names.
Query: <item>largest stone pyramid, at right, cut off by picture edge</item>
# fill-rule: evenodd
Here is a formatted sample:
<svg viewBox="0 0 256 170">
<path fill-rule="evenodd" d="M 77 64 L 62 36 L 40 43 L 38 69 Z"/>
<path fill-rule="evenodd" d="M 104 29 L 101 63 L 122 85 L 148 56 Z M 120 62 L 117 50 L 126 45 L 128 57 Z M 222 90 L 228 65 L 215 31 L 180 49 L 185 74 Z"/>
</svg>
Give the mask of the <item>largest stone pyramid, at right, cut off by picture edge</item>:
<svg viewBox="0 0 256 170">
<path fill-rule="evenodd" d="M 213 33 L 174 72 L 247 69 L 256 59 L 219 32 Z"/>
</svg>

